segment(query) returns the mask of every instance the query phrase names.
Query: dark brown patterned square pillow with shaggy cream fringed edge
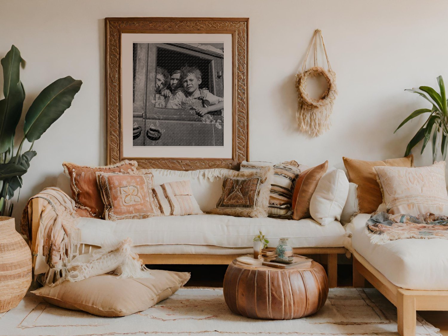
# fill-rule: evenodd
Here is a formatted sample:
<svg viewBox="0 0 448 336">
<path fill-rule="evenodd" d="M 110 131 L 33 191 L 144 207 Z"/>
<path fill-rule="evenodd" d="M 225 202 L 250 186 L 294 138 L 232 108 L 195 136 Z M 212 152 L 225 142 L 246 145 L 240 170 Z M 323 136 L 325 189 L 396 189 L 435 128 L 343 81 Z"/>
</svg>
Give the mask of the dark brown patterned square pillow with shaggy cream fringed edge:
<svg viewBox="0 0 448 336">
<path fill-rule="evenodd" d="M 216 209 L 210 212 L 237 217 L 266 217 L 274 169 L 272 166 L 224 178 Z"/>
</svg>

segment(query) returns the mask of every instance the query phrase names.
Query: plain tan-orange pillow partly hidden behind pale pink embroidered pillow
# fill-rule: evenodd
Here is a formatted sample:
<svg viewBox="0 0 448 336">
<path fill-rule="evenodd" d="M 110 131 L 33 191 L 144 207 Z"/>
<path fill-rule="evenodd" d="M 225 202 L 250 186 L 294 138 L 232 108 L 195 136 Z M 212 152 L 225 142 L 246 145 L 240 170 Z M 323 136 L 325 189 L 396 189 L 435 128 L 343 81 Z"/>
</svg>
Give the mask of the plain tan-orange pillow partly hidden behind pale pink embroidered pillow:
<svg viewBox="0 0 448 336">
<path fill-rule="evenodd" d="M 374 167 L 388 166 L 388 167 L 414 167 L 414 155 L 408 155 L 399 159 L 387 159 L 382 161 L 363 161 L 356 159 L 344 160 L 345 169 L 349 176 L 349 182 L 358 185 L 358 204 L 359 212 L 370 214 L 383 202 L 383 196 L 379 189 L 377 175 Z"/>
</svg>

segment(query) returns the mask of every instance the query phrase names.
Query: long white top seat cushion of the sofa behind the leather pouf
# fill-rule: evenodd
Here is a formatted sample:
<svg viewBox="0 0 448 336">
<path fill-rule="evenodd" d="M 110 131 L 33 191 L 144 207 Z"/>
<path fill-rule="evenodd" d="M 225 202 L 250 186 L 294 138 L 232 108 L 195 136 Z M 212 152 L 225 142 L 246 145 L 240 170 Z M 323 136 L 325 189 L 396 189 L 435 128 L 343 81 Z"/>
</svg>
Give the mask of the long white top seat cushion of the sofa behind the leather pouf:
<svg viewBox="0 0 448 336">
<path fill-rule="evenodd" d="M 141 220 L 99 220 L 78 218 L 79 242 L 96 246 L 115 246 L 130 237 L 134 246 L 192 244 L 222 247 L 251 247 L 261 230 L 277 246 L 287 237 L 293 247 L 344 246 L 345 230 L 333 221 L 320 225 L 312 219 L 280 220 L 225 215 L 162 216 Z"/>
</svg>

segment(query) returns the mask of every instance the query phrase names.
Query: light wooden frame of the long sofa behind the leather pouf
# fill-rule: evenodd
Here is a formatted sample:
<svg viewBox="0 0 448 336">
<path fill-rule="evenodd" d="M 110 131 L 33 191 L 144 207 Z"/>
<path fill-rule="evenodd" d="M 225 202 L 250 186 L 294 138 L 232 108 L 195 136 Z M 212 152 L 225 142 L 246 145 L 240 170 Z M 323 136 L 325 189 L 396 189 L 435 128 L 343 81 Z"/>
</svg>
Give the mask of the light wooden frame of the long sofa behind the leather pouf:
<svg viewBox="0 0 448 336">
<path fill-rule="evenodd" d="M 36 237 L 40 225 L 40 214 L 43 208 L 43 198 L 31 200 L 31 241 L 30 249 L 33 254 L 33 270 L 35 265 Z M 273 249 L 272 249 L 273 250 Z M 294 248 L 294 254 L 327 254 L 328 286 L 337 287 L 337 255 L 346 253 L 345 247 L 301 247 Z M 195 265 L 228 265 L 233 259 L 242 254 L 139 254 L 145 264 L 195 264 Z"/>
</svg>

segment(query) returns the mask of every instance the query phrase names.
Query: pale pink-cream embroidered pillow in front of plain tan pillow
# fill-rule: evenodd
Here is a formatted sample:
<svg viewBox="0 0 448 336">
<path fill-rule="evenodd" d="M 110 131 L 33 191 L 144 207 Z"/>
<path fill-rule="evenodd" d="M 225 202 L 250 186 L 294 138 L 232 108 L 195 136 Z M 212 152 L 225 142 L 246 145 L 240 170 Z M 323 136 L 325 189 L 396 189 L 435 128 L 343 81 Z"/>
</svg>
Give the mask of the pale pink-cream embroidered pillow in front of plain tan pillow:
<svg viewBox="0 0 448 336">
<path fill-rule="evenodd" d="M 444 161 L 428 167 L 375 167 L 375 171 L 389 214 L 448 215 Z"/>
</svg>

